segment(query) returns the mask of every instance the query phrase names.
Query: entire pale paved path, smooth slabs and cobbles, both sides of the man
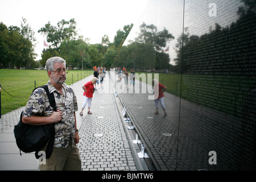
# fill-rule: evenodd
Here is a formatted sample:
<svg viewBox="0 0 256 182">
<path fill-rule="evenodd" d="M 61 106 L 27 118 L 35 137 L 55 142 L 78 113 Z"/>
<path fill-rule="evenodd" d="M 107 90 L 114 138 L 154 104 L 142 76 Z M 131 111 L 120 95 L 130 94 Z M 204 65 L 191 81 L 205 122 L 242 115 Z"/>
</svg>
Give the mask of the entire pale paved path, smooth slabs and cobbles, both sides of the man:
<svg viewBox="0 0 256 182">
<path fill-rule="evenodd" d="M 114 94 L 106 91 L 111 88 L 100 88 L 94 93 L 93 114 L 87 114 L 85 107 L 84 115 L 79 115 L 84 100 L 81 86 L 91 79 L 92 76 L 89 76 L 71 85 L 79 105 L 76 118 L 82 170 L 137 170 L 140 164 L 132 155 L 133 147 L 129 146 Z M 110 85 L 109 77 L 105 78 L 104 84 Z M 38 170 L 34 153 L 22 152 L 20 156 L 15 143 L 13 129 L 22 110 L 23 107 L 11 111 L 0 119 L 0 170 Z M 97 134 L 102 136 L 96 137 Z"/>
</svg>

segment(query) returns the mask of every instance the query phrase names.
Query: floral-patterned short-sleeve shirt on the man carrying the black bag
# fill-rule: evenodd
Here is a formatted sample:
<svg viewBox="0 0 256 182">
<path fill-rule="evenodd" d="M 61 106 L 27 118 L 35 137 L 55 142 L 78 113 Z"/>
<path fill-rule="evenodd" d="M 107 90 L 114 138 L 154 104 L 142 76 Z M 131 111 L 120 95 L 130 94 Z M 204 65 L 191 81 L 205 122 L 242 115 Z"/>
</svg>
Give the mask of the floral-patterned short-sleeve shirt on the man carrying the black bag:
<svg viewBox="0 0 256 182">
<path fill-rule="evenodd" d="M 70 140 L 72 145 L 75 138 L 75 115 L 78 110 L 77 99 L 73 89 L 67 84 L 63 84 L 61 94 L 51 81 L 47 83 L 49 93 L 54 94 L 56 108 L 63 112 L 63 119 L 55 123 L 55 142 L 54 147 L 66 148 Z M 46 91 L 43 88 L 35 89 L 31 94 L 23 111 L 23 117 L 31 116 L 46 116 L 49 117 L 53 112 L 53 108 L 49 105 L 49 100 Z"/>
</svg>

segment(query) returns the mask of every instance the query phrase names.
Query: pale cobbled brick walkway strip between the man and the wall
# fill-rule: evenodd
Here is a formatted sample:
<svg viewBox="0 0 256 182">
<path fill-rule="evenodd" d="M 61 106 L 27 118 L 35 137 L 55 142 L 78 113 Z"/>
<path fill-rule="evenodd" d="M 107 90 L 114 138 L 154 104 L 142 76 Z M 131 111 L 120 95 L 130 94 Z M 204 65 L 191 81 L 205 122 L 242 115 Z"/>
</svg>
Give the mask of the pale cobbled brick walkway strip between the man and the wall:
<svg viewBox="0 0 256 182">
<path fill-rule="evenodd" d="M 80 127 L 82 170 L 136 170 L 114 94 L 105 87 L 108 84 L 107 76 L 104 89 L 94 92 L 90 107 L 93 114 L 86 114 Z M 86 111 L 87 106 L 84 113 Z M 102 137 L 95 137 L 95 134 Z"/>
</svg>

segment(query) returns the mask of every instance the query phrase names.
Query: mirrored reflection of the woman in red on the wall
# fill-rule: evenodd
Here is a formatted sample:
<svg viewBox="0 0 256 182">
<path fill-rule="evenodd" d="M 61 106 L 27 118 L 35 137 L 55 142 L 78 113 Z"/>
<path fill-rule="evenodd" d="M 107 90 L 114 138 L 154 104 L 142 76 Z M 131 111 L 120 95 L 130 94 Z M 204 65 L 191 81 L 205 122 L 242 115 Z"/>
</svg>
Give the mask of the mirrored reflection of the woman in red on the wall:
<svg viewBox="0 0 256 182">
<path fill-rule="evenodd" d="M 166 116 L 167 113 L 166 113 L 166 106 L 164 106 L 164 91 L 166 91 L 167 87 L 160 84 L 158 82 L 158 80 L 154 79 L 152 81 L 152 85 L 154 85 L 154 90 L 155 90 L 155 94 L 156 96 L 158 96 L 157 98 L 155 98 L 155 107 L 156 107 L 156 112 L 155 114 L 158 114 L 158 109 L 159 109 L 159 102 L 160 102 L 160 105 L 164 111 L 164 115 Z"/>
</svg>

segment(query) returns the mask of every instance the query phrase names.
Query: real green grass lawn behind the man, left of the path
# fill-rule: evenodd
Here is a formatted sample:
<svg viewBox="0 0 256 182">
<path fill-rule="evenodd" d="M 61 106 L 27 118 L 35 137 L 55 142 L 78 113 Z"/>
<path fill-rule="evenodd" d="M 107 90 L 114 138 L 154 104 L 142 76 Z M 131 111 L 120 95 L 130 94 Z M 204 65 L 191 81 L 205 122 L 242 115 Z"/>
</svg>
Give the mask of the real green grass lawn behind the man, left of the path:
<svg viewBox="0 0 256 182">
<path fill-rule="evenodd" d="M 67 74 L 66 84 L 71 85 L 72 82 L 92 74 L 93 71 L 71 70 Z M 26 105 L 32 90 L 47 84 L 48 80 L 49 77 L 45 70 L 0 69 L 1 113 L 5 114 Z"/>
</svg>

